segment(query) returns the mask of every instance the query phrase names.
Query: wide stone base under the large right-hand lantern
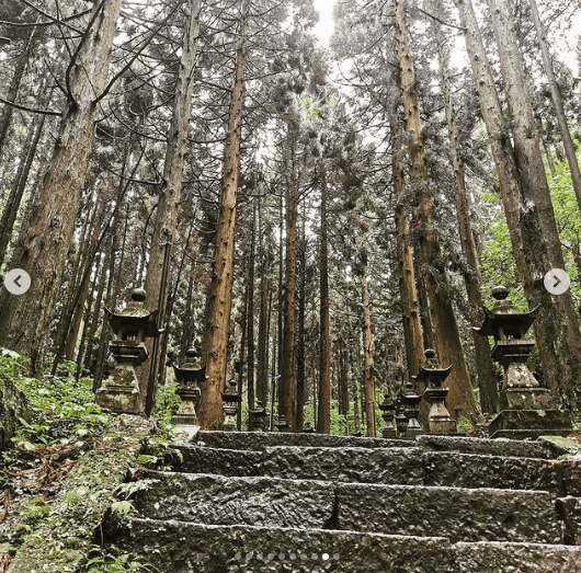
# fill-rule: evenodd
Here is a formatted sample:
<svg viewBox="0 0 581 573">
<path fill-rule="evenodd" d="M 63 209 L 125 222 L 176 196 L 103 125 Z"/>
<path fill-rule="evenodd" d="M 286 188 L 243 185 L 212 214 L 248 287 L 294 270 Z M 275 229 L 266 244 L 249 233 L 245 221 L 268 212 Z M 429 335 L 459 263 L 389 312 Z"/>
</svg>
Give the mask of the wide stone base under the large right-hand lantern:
<svg viewBox="0 0 581 573">
<path fill-rule="evenodd" d="M 572 432 L 571 414 L 563 410 L 503 410 L 489 424 L 491 438 L 524 439 Z"/>
</svg>

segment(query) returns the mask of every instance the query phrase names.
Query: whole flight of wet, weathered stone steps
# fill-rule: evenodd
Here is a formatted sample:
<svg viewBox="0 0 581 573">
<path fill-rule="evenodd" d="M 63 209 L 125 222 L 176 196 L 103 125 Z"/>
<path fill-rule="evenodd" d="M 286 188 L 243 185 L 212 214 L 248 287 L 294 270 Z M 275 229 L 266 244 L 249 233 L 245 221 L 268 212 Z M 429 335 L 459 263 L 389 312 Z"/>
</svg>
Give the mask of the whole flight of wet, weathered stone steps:
<svg viewBox="0 0 581 573">
<path fill-rule="evenodd" d="M 200 432 L 109 519 L 161 572 L 581 573 L 581 461 L 544 442 Z"/>
</svg>

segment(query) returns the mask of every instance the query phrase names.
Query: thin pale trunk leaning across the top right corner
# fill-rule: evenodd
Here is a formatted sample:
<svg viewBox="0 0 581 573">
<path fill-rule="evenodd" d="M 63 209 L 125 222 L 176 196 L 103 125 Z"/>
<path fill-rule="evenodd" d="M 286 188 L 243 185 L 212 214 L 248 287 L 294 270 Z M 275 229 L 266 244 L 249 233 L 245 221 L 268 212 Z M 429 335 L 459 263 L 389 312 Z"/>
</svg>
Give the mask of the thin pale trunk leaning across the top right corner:
<svg viewBox="0 0 581 573">
<path fill-rule="evenodd" d="M 543 55 L 543 66 L 545 73 L 549 81 L 550 95 L 555 105 L 555 115 L 557 116 L 557 124 L 559 125 L 559 133 L 561 134 L 562 146 L 565 148 L 565 154 L 567 156 L 567 162 L 569 163 L 569 170 L 571 171 L 571 182 L 573 184 L 574 194 L 577 196 L 577 204 L 581 210 L 581 170 L 577 161 L 577 154 L 574 149 L 573 140 L 569 131 L 569 125 L 567 123 L 567 115 L 565 114 L 565 106 L 562 104 L 561 92 L 555 71 L 552 70 L 552 60 L 550 57 L 549 47 L 547 45 L 546 32 L 540 22 L 540 15 L 538 13 L 538 7 L 536 0 L 528 0 L 531 2 L 531 13 L 533 15 L 533 22 L 537 32 L 537 39 L 540 46 L 540 54 Z M 547 153 L 549 161 L 551 160 L 550 153 Z"/>
</svg>

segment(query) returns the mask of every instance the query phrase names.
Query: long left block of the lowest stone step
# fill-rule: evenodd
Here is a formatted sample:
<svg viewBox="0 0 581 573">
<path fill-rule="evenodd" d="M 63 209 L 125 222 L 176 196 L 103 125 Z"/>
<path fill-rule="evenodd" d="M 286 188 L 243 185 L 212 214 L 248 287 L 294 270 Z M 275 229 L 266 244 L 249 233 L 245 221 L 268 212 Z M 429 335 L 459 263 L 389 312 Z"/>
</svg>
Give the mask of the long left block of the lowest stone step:
<svg viewBox="0 0 581 573">
<path fill-rule="evenodd" d="M 161 573 L 456 573 L 447 539 L 130 519 L 106 528 Z"/>
</svg>

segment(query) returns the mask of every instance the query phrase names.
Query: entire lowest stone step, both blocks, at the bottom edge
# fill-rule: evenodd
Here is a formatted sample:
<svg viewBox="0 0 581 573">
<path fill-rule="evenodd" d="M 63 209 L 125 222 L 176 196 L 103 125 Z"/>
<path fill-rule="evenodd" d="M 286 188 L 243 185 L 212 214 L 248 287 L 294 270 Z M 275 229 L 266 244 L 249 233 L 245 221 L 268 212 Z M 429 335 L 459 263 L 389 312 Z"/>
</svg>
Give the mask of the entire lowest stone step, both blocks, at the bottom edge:
<svg viewBox="0 0 581 573">
<path fill-rule="evenodd" d="M 555 545 L 144 518 L 109 522 L 105 535 L 160 573 L 581 573 L 581 548 Z"/>
</svg>

